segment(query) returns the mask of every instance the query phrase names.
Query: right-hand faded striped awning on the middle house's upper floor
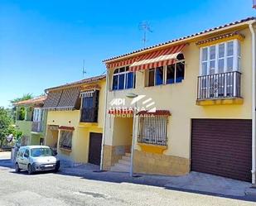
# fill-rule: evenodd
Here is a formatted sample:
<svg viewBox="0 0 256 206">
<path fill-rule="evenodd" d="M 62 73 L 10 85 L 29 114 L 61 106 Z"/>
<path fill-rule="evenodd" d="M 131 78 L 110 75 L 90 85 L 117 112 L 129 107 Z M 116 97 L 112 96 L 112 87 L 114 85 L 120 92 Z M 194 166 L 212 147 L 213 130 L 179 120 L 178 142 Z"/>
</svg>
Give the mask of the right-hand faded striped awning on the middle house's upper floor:
<svg viewBox="0 0 256 206">
<path fill-rule="evenodd" d="M 75 108 L 80 94 L 80 88 L 64 89 L 56 110 L 72 110 Z"/>
</svg>

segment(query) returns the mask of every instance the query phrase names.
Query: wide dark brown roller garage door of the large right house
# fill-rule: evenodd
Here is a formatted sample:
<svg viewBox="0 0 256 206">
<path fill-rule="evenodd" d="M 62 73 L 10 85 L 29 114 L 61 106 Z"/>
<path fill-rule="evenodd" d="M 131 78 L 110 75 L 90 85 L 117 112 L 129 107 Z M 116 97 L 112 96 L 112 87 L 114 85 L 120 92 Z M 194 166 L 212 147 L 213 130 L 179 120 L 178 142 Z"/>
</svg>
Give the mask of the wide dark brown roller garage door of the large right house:
<svg viewBox="0 0 256 206">
<path fill-rule="evenodd" d="M 191 170 L 251 181 L 251 120 L 193 119 Z"/>
</svg>

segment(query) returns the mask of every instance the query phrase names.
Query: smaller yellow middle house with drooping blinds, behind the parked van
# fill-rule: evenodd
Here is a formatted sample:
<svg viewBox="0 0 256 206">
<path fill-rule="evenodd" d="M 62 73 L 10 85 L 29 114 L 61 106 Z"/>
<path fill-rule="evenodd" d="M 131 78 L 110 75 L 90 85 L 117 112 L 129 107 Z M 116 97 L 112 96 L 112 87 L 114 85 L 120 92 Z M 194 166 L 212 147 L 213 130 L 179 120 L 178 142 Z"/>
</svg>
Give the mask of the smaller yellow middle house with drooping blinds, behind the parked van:
<svg viewBox="0 0 256 206">
<path fill-rule="evenodd" d="M 105 75 L 46 89 L 46 146 L 67 165 L 99 165 L 104 127 Z"/>
</svg>

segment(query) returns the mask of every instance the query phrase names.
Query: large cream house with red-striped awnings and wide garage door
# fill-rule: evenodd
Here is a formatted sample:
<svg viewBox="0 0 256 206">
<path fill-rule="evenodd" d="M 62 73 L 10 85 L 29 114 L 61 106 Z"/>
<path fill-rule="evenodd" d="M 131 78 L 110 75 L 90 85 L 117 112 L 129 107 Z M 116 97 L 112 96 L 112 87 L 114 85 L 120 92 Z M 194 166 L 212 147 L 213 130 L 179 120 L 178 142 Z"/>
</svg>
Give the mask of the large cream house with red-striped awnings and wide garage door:
<svg viewBox="0 0 256 206">
<path fill-rule="evenodd" d="M 255 183 L 255 26 L 251 17 L 104 60 L 103 168 L 130 169 L 134 136 L 136 173 Z"/>
</svg>

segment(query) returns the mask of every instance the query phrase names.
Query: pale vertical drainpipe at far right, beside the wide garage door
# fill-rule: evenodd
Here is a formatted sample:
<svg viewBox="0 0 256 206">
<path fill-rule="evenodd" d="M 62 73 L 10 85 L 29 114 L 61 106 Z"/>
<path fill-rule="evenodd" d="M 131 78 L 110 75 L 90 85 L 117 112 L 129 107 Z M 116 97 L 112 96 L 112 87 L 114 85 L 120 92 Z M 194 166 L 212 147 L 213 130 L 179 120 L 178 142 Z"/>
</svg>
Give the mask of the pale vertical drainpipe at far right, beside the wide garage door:
<svg viewBox="0 0 256 206">
<path fill-rule="evenodd" d="M 254 21 L 255 22 L 255 21 Z M 252 184 L 255 184 L 255 178 L 256 178 L 256 132 L 255 132 L 255 121 L 256 121 L 256 93 L 255 93 L 255 82 L 256 82 L 256 62 L 255 62 L 255 31 L 254 31 L 254 22 L 249 23 L 249 30 L 251 31 L 252 34 Z"/>
</svg>

